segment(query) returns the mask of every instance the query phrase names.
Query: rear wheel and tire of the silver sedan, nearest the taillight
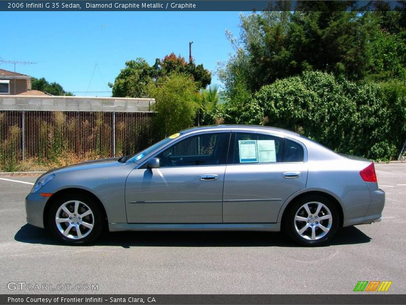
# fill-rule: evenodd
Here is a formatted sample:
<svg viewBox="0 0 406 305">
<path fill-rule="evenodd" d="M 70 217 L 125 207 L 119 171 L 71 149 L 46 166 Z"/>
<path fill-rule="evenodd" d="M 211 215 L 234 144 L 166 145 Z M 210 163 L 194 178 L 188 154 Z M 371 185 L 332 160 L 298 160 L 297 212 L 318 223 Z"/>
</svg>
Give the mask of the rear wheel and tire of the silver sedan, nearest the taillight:
<svg viewBox="0 0 406 305">
<path fill-rule="evenodd" d="M 324 196 L 311 195 L 300 198 L 289 207 L 283 226 L 300 245 L 320 246 L 335 235 L 339 223 L 336 205 Z"/>
</svg>

